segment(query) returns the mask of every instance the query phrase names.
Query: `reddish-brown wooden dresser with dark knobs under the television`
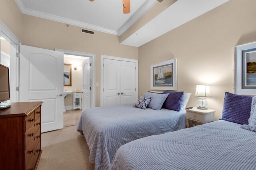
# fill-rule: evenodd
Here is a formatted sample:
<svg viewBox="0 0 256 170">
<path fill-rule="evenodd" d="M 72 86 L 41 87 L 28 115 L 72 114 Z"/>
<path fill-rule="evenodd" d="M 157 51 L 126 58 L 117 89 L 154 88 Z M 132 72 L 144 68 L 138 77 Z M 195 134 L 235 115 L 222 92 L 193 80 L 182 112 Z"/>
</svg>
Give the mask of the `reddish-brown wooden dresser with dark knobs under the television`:
<svg viewBox="0 0 256 170">
<path fill-rule="evenodd" d="M 12 103 L 0 110 L 0 169 L 35 170 L 41 150 L 43 102 Z"/>
</svg>

